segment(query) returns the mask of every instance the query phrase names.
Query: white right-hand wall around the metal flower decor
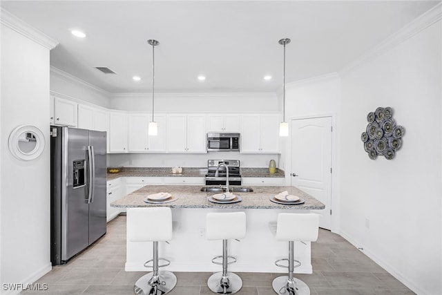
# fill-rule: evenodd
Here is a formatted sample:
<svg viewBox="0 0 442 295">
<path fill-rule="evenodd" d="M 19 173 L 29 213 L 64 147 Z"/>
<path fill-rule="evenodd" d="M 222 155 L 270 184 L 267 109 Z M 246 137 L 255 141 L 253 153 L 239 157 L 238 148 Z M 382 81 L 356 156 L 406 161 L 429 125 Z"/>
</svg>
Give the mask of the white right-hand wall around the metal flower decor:
<svg viewBox="0 0 442 295">
<path fill-rule="evenodd" d="M 441 21 L 342 77 L 340 234 L 417 294 L 442 294 Z M 366 116 L 405 127 L 394 160 L 369 160 Z"/>
</svg>

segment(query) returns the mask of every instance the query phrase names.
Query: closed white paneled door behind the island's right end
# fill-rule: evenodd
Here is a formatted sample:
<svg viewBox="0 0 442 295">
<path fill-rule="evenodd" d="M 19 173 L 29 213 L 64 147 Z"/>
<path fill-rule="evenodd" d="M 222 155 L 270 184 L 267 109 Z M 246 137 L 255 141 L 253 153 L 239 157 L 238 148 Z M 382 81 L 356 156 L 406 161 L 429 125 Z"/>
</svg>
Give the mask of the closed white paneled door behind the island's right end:
<svg viewBox="0 0 442 295">
<path fill-rule="evenodd" d="M 291 120 L 291 185 L 325 204 L 320 227 L 330 229 L 332 205 L 332 117 Z"/>
</svg>

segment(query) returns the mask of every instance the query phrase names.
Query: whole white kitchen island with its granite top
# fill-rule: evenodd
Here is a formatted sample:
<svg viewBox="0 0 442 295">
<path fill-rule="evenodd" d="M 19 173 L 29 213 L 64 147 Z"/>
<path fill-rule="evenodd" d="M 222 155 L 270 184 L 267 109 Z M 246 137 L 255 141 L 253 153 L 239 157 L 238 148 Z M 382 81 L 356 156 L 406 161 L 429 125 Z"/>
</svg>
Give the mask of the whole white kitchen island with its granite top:
<svg viewBox="0 0 442 295">
<path fill-rule="evenodd" d="M 170 244 L 159 243 L 160 257 L 171 260 L 167 267 L 172 272 L 218 272 L 219 265 L 211 259 L 222 253 L 222 242 L 206 240 L 206 213 L 244 211 L 247 216 L 247 233 L 240 242 L 229 240 L 229 254 L 238 262 L 229 265 L 232 272 L 278 272 L 286 269 L 276 267 L 274 261 L 286 258 L 288 242 L 278 242 L 273 237 L 276 218 L 280 212 L 308 213 L 311 209 L 324 209 L 324 204 L 296 187 L 253 187 L 252 192 L 235 193 L 242 201 L 231 204 L 215 204 L 208 198 L 213 192 L 200 191 L 202 186 L 148 185 L 128 194 L 111 204 L 112 207 L 172 208 L 173 239 Z M 303 204 L 276 204 L 269 200 L 281 191 L 304 199 Z M 150 204 L 144 198 L 152 193 L 167 192 L 177 197 L 174 202 Z M 126 271 L 148 271 L 144 263 L 152 256 L 151 242 L 126 242 Z M 295 272 L 311 274 L 311 251 L 309 242 L 295 242 L 295 259 L 302 265 Z"/>
</svg>

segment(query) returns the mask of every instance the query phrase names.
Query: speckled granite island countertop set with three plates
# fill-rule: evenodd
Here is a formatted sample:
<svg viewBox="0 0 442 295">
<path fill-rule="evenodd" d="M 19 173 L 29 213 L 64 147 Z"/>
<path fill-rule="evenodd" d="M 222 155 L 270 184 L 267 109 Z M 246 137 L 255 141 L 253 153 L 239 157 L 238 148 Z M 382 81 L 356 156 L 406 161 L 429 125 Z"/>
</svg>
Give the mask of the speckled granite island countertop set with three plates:
<svg viewBox="0 0 442 295">
<path fill-rule="evenodd" d="M 199 185 L 148 185 L 142 187 L 124 198 L 111 203 L 111 207 L 171 207 L 171 208 L 218 208 L 218 209 L 324 209 L 325 205 L 308 193 L 296 187 L 253 187 L 250 193 L 235 193 L 242 198 L 241 202 L 232 204 L 215 204 L 207 198 L 212 192 L 200 191 Z M 305 200 L 304 204 L 276 204 L 269 200 L 281 191 L 288 191 L 291 195 Z M 177 197 L 174 202 L 164 204 L 150 204 L 144 198 L 152 193 L 168 192 Z"/>
</svg>

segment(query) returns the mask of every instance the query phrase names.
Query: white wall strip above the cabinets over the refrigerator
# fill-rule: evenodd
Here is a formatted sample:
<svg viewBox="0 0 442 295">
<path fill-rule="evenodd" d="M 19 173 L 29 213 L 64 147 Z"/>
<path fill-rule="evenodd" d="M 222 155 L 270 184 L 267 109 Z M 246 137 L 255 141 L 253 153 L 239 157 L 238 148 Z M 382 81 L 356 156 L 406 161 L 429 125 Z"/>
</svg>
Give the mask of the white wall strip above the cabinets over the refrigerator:
<svg viewBox="0 0 442 295">
<path fill-rule="evenodd" d="M 110 105 L 109 93 L 54 67 L 50 67 L 50 92 L 81 104 Z"/>
</svg>

